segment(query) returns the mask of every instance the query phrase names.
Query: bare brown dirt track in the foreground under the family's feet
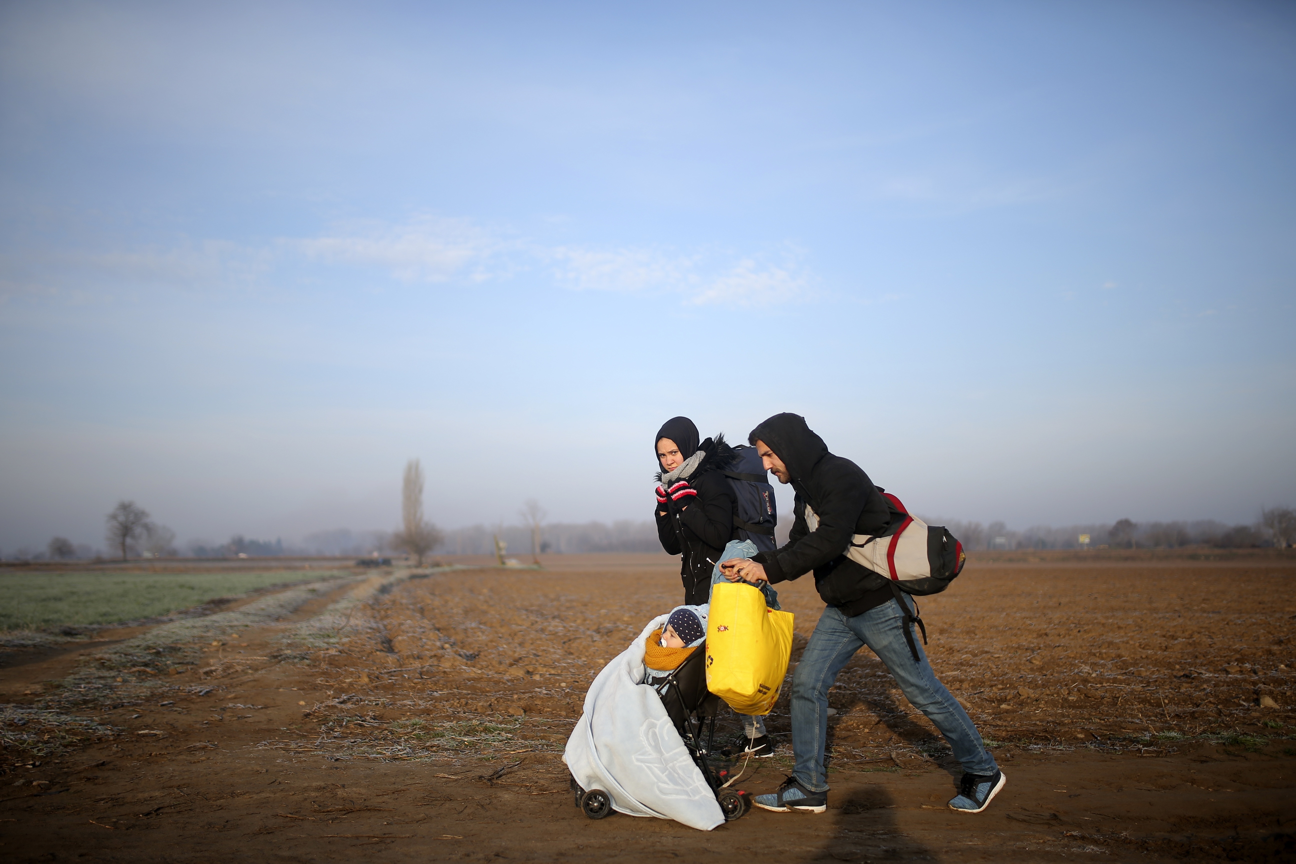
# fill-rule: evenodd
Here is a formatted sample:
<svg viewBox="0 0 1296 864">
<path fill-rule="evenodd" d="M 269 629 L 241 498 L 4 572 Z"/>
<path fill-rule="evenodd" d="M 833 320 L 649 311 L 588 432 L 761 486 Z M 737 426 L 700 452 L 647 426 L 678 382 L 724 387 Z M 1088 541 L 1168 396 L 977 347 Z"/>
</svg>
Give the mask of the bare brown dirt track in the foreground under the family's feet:
<svg viewBox="0 0 1296 864">
<path fill-rule="evenodd" d="M 237 698 L 267 697 L 277 703 L 270 711 L 290 706 L 294 694 L 245 690 Z M 1282 797 L 1257 789 L 1249 775 L 1269 767 L 1265 758 L 1212 749 L 1151 759 L 1017 755 L 1004 766 L 1010 785 L 994 810 L 977 816 L 945 808 L 950 779 L 940 769 L 840 772 L 823 816 L 753 811 L 702 833 L 664 820 L 586 819 L 553 754 L 524 758 L 492 786 L 478 777 L 495 763 L 285 759 L 258 750 L 255 734 L 228 732 L 231 714 L 226 728 L 207 733 L 210 747 L 130 742 L 83 754 L 80 771 L 47 773 L 56 780 L 43 795 L 0 804 L 0 817 L 14 820 L 0 823 L 6 858 L 1273 861 L 1296 854 L 1290 824 L 1282 825 L 1291 821 L 1291 786 Z M 780 779 L 781 769 L 761 766 L 749 785 L 770 789 Z"/>
</svg>

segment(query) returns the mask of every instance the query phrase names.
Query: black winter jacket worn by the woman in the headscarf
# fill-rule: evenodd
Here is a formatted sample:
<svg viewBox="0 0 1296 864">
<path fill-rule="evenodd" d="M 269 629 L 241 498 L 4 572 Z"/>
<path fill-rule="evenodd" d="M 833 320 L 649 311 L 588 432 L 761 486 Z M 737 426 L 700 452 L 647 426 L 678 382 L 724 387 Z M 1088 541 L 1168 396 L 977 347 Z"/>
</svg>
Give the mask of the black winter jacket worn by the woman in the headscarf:
<svg viewBox="0 0 1296 864">
<path fill-rule="evenodd" d="M 704 440 L 699 449 L 706 456 L 688 478 L 697 497 L 679 501 L 667 497 L 666 504 L 653 508 L 661 547 L 670 554 L 683 554 L 679 576 L 684 583 L 686 606 L 708 602 L 712 569 L 719 562 L 724 544 L 735 536 L 734 492 L 721 473 L 734 462 L 734 448 L 724 443 L 724 435 L 717 435 L 714 440 Z M 657 479 L 661 479 L 660 473 Z"/>
</svg>

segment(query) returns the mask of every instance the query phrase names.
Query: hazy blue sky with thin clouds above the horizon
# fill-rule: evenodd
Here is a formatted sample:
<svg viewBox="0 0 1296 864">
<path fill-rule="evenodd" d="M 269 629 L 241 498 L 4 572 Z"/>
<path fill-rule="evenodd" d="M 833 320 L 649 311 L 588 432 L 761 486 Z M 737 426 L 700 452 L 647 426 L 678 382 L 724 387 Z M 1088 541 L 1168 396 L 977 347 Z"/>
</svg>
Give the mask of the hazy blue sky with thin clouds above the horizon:
<svg viewBox="0 0 1296 864">
<path fill-rule="evenodd" d="M 391 527 L 411 457 L 644 518 L 665 418 L 779 411 L 929 514 L 1251 521 L 1293 109 L 1286 3 L 6 4 L 0 551 Z"/>
</svg>

